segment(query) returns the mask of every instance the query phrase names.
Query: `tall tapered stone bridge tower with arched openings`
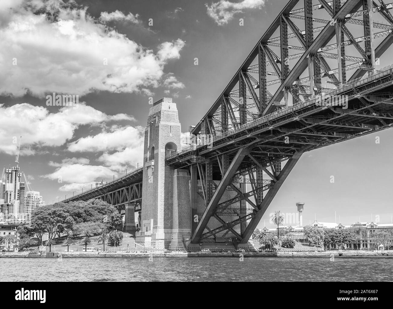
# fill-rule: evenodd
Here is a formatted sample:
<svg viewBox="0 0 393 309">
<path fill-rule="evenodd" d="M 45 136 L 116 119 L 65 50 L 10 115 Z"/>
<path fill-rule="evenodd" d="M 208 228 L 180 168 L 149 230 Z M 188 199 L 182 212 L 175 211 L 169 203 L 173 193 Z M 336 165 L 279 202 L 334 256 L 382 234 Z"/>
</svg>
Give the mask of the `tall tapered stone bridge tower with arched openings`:
<svg viewBox="0 0 393 309">
<path fill-rule="evenodd" d="M 191 232 L 189 173 L 165 165 L 165 156 L 181 150 L 181 128 L 171 98 L 149 110 L 143 151 L 142 212 L 136 242 L 154 248 L 183 248 Z"/>
</svg>

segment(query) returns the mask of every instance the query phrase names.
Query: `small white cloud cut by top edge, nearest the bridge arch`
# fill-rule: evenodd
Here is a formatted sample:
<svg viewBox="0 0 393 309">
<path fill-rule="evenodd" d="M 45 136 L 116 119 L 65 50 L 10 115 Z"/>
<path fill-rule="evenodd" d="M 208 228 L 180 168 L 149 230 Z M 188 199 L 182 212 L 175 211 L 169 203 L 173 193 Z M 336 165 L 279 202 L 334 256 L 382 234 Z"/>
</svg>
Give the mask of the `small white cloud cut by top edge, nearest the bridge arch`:
<svg viewBox="0 0 393 309">
<path fill-rule="evenodd" d="M 230 2 L 220 0 L 213 2 L 211 5 L 205 4 L 208 9 L 208 15 L 213 18 L 217 25 L 228 24 L 237 13 L 243 13 L 244 9 L 261 9 L 264 0 L 243 0 L 242 2 Z"/>
</svg>

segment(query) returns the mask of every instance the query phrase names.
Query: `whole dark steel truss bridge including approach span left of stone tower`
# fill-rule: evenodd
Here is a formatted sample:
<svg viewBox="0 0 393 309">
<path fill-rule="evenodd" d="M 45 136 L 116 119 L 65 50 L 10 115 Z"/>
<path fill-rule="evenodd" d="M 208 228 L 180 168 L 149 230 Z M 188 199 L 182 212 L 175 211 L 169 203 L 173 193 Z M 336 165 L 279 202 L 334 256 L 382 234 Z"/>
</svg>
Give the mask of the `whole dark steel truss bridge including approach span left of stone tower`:
<svg viewBox="0 0 393 309">
<path fill-rule="evenodd" d="M 286 4 L 191 131 L 211 137 L 209 144 L 166 157 L 167 165 L 190 172 L 191 208 L 197 194 L 206 204 L 191 243 L 210 242 L 220 232 L 247 243 L 304 152 L 392 126 L 393 66 L 378 68 L 393 43 L 392 7 L 382 0 Z M 141 187 L 141 170 L 66 201 L 140 201 L 134 185 Z M 235 194 L 222 201 L 228 190 Z M 229 207 L 235 203 L 240 208 Z M 233 214 L 238 218 L 226 221 Z M 211 218 L 220 226 L 210 229 Z"/>
</svg>

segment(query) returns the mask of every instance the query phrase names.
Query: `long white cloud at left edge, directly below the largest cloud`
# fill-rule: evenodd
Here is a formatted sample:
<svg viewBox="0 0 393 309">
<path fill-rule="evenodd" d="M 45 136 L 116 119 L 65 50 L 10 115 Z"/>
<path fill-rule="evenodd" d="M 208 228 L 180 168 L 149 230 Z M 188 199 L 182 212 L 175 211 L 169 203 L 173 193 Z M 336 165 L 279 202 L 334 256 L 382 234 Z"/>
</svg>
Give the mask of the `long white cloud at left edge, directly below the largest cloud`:
<svg viewBox="0 0 393 309">
<path fill-rule="evenodd" d="M 31 155 L 35 153 L 31 146 L 61 146 L 72 139 L 75 130 L 82 125 L 98 126 L 110 121 L 135 120 L 123 113 L 107 115 L 84 103 L 79 103 L 78 108 L 64 106 L 51 113 L 48 108 L 28 103 L 9 107 L 0 104 L 0 153 L 16 153 L 15 136 L 23 135 L 21 153 L 24 151 L 25 155 Z"/>
</svg>

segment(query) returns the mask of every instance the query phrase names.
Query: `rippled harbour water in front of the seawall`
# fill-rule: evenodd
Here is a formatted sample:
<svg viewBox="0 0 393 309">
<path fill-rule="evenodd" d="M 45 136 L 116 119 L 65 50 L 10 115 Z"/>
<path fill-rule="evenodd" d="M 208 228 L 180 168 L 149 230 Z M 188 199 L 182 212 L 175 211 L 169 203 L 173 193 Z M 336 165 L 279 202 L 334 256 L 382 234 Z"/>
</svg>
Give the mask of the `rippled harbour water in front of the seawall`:
<svg viewBox="0 0 393 309">
<path fill-rule="evenodd" d="M 391 281 L 393 258 L 0 258 L 1 281 Z"/>
</svg>

